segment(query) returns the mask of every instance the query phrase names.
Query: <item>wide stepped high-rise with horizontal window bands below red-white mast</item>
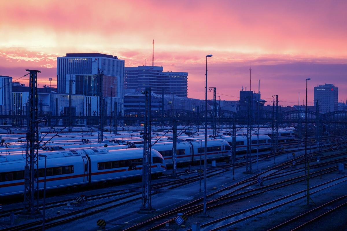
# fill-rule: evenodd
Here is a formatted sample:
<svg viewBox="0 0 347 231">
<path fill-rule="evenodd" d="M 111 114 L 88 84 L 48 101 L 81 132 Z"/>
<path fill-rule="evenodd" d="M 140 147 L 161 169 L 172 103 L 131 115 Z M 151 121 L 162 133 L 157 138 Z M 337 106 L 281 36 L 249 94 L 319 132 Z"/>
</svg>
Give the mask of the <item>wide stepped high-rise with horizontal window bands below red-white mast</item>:
<svg viewBox="0 0 347 231">
<path fill-rule="evenodd" d="M 187 97 L 188 73 L 163 72 L 162 66 L 135 66 L 125 68 L 124 88 L 141 91 L 151 87 L 155 94 Z"/>
</svg>

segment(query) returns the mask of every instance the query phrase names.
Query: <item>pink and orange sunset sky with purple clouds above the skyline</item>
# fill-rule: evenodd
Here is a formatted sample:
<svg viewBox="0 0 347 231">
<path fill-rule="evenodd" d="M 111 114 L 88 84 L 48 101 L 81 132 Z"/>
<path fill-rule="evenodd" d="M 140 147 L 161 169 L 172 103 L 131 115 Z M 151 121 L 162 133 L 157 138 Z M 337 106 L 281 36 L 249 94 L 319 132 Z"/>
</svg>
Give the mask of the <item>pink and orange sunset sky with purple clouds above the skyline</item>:
<svg viewBox="0 0 347 231">
<path fill-rule="evenodd" d="M 308 104 L 313 87 L 333 83 L 347 98 L 347 1 L 0 1 L 0 75 L 25 69 L 53 78 L 66 53 L 118 56 L 125 66 L 152 59 L 164 71 L 188 72 L 188 97 L 204 98 L 205 55 L 210 87 L 238 100 L 242 86 L 265 100 Z M 22 78 L 18 80 L 27 83 Z M 212 98 L 212 93 L 209 93 Z"/>
</svg>

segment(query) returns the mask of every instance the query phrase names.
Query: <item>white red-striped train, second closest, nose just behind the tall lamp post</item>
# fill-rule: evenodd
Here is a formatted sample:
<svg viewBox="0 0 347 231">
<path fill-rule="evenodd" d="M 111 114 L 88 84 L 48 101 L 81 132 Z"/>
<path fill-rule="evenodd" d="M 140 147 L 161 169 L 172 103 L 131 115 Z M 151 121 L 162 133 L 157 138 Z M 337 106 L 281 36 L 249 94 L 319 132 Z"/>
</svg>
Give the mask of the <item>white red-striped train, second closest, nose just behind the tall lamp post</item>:
<svg viewBox="0 0 347 231">
<path fill-rule="evenodd" d="M 203 157 L 205 154 L 204 145 L 204 140 L 177 142 L 177 163 L 200 161 L 200 156 Z M 172 142 L 155 143 L 152 146 L 152 149 L 155 149 L 163 156 L 167 165 L 172 165 Z M 206 155 L 208 160 L 230 158 L 230 145 L 225 140 L 208 140 Z"/>
</svg>

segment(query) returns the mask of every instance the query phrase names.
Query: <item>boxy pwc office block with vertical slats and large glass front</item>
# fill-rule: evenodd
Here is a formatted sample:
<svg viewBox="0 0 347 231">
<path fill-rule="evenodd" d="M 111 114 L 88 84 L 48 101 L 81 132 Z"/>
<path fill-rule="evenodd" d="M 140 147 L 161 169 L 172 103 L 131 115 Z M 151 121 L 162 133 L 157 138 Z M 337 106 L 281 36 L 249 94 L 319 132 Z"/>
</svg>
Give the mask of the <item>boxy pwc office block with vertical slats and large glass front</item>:
<svg viewBox="0 0 347 231">
<path fill-rule="evenodd" d="M 94 97 L 99 92 L 99 78 L 96 74 L 103 73 L 103 96 L 105 101 L 117 102 L 117 112 L 124 111 L 124 60 L 117 56 L 100 53 L 66 54 L 57 59 L 58 93 L 69 93 L 72 80 L 72 94 Z M 92 101 L 93 101 L 92 100 Z M 90 107 L 95 106 L 92 104 Z M 108 107 L 109 114 L 111 107 Z M 94 111 L 95 108 L 86 108 Z M 112 108 L 112 110 L 114 110 Z M 96 110 L 99 112 L 99 110 Z"/>
</svg>

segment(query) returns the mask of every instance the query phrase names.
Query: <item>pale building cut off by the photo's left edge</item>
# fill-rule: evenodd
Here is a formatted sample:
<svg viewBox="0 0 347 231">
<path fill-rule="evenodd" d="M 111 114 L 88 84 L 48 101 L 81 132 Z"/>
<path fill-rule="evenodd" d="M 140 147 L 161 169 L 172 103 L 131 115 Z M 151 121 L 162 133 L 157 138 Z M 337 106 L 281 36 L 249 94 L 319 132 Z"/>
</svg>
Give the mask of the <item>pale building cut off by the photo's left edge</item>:
<svg viewBox="0 0 347 231">
<path fill-rule="evenodd" d="M 11 115 L 12 112 L 12 77 L 0 75 L 0 113 Z"/>
</svg>

